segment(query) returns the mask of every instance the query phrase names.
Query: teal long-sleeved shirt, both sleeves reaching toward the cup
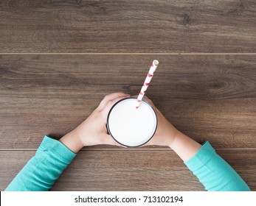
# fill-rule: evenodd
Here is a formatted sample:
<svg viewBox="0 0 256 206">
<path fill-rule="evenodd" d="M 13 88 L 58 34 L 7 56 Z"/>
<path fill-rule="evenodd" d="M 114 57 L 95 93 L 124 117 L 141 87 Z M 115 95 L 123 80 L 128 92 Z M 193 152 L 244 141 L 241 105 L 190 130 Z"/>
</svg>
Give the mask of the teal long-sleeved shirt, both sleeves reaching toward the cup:
<svg viewBox="0 0 256 206">
<path fill-rule="evenodd" d="M 35 156 L 5 191 L 49 191 L 75 155 L 60 141 L 45 136 Z M 246 182 L 215 153 L 209 142 L 185 164 L 207 191 L 250 191 Z"/>
</svg>

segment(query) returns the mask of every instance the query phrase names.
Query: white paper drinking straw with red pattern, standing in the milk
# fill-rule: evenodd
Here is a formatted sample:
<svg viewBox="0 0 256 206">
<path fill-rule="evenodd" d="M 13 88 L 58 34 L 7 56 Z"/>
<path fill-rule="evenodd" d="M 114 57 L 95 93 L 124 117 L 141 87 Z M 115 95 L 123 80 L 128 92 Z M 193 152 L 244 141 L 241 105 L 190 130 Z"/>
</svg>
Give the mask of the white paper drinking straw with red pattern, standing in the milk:
<svg viewBox="0 0 256 206">
<path fill-rule="evenodd" d="M 148 75 L 145 79 L 145 82 L 142 86 L 142 89 L 139 92 L 139 96 L 136 99 L 136 109 L 139 108 L 139 104 L 140 104 L 140 102 L 142 102 L 142 98 L 145 95 L 146 90 L 148 89 L 148 85 L 151 82 L 151 79 L 153 77 L 154 72 L 156 71 L 156 68 L 157 68 L 158 64 L 159 64 L 158 60 L 153 60 L 153 63 L 151 65 L 151 68 L 148 71 Z"/>
</svg>

